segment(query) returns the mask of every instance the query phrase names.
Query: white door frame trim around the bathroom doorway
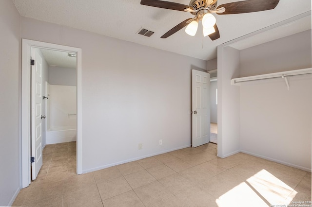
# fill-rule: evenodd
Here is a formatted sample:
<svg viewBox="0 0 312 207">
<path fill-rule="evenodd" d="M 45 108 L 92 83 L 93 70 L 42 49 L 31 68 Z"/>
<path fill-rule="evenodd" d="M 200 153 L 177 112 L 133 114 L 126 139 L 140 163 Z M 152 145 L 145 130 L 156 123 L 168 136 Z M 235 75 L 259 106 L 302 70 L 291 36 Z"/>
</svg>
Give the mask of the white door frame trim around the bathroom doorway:
<svg viewBox="0 0 312 207">
<path fill-rule="evenodd" d="M 30 144 L 31 144 L 31 66 L 30 48 L 44 48 L 77 53 L 77 174 L 82 173 L 82 107 L 81 107 L 81 49 L 64 45 L 22 39 L 21 62 L 21 187 L 31 182 Z"/>
</svg>

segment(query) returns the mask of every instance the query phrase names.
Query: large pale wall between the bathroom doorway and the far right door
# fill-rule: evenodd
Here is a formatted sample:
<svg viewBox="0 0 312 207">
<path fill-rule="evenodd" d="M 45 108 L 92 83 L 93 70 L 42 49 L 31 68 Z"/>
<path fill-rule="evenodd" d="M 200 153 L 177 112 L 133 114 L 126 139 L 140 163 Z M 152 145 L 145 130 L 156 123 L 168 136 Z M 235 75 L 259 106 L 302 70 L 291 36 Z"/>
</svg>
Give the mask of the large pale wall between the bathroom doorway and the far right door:
<svg viewBox="0 0 312 207">
<path fill-rule="evenodd" d="M 82 49 L 83 172 L 190 146 L 191 69 L 206 61 L 23 17 L 21 35 Z"/>
</svg>

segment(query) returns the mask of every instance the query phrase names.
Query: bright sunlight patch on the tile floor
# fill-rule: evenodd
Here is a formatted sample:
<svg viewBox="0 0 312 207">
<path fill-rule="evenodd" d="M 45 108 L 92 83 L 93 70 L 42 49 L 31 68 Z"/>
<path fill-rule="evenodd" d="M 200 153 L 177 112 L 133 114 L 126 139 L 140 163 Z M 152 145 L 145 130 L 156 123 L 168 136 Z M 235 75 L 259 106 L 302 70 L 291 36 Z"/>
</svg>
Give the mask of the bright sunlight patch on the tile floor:
<svg viewBox="0 0 312 207">
<path fill-rule="evenodd" d="M 297 194 L 266 170 L 261 170 L 215 200 L 218 207 L 288 205 Z M 291 196 L 291 197 L 290 197 Z"/>
</svg>

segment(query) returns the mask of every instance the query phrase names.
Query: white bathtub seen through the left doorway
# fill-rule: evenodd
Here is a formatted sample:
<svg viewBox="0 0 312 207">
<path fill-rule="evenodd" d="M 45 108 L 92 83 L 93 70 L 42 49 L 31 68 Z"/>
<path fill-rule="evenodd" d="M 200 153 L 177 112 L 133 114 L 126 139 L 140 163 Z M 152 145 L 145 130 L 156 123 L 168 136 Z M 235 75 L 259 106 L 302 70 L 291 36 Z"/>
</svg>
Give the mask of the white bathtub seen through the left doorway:
<svg viewBox="0 0 312 207">
<path fill-rule="evenodd" d="M 71 127 L 50 128 L 45 135 L 46 144 L 76 141 L 77 129 Z"/>
</svg>

